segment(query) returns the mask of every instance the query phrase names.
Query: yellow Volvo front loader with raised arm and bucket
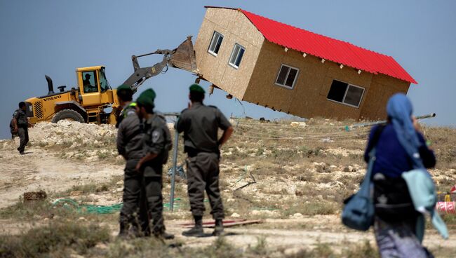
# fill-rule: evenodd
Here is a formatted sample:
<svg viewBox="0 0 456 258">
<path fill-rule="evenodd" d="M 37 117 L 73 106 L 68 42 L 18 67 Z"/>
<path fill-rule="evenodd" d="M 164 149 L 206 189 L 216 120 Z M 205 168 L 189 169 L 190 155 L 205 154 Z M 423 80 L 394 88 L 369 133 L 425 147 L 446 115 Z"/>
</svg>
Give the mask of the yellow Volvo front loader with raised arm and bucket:
<svg viewBox="0 0 456 258">
<path fill-rule="evenodd" d="M 163 55 L 163 60 L 152 67 L 140 67 L 138 57 L 145 55 Z M 134 92 L 150 77 L 160 74 L 165 67 L 176 67 L 197 73 L 192 37 L 174 50 L 156 50 L 153 53 L 132 56 L 134 72 L 124 82 Z M 42 97 L 31 97 L 25 101 L 29 122 L 57 121 L 67 119 L 81 123 L 115 124 L 122 107 L 119 107 L 116 90 L 109 86 L 105 67 L 82 67 L 76 69 L 76 87 L 65 90 L 59 86 L 54 92 L 53 82 L 46 75 L 48 94 Z M 105 110 L 112 108 L 109 113 Z"/>
</svg>

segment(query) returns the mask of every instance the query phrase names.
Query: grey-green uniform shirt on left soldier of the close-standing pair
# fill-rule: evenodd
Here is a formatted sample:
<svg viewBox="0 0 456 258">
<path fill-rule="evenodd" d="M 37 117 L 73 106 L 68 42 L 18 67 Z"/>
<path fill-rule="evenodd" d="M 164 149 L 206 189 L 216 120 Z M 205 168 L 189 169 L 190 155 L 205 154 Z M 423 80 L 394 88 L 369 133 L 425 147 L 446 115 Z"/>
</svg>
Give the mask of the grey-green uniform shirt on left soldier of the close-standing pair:
<svg viewBox="0 0 456 258">
<path fill-rule="evenodd" d="M 140 129 L 140 118 L 136 113 L 131 113 L 119 125 L 117 131 L 117 151 L 126 159 L 140 159 L 144 156 L 142 151 L 143 133 Z"/>
</svg>

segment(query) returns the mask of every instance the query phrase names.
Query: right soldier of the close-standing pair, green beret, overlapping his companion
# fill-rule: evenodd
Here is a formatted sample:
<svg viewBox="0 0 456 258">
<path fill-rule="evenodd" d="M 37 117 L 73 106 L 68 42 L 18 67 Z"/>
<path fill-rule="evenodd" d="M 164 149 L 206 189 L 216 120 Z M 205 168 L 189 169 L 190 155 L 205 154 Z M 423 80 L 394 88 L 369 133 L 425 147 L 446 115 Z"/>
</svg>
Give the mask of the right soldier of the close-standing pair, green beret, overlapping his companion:
<svg viewBox="0 0 456 258">
<path fill-rule="evenodd" d="M 144 177 L 148 214 L 149 217 L 152 217 L 152 233 L 159 238 L 172 239 L 174 236 L 165 232 L 161 190 L 163 188 L 163 164 L 168 160 L 168 154 L 173 144 L 165 118 L 154 113 L 155 96 L 154 90 L 148 89 L 136 100 L 138 116 L 144 124 L 142 141 L 144 156 L 136 165 L 136 169 Z"/>
</svg>

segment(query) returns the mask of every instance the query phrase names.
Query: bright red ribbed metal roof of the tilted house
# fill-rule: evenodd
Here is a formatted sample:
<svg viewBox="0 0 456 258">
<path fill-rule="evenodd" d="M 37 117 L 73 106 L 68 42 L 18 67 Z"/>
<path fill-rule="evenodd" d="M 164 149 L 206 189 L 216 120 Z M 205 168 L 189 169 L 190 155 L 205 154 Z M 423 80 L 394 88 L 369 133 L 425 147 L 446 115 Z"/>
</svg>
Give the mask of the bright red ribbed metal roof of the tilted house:
<svg viewBox="0 0 456 258">
<path fill-rule="evenodd" d="M 205 6 L 206 8 L 221 8 Z M 230 8 L 233 9 L 233 8 Z M 241 11 L 257 27 L 268 41 L 302 53 L 321 57 L 347 67 L 361 69 L 373 74 L 385 74 L 417 84 L 393 57 L 373 52 L 351 43 L 309 32 L 281 22 L 276 22 L 248 11 Z"/>
</svg>

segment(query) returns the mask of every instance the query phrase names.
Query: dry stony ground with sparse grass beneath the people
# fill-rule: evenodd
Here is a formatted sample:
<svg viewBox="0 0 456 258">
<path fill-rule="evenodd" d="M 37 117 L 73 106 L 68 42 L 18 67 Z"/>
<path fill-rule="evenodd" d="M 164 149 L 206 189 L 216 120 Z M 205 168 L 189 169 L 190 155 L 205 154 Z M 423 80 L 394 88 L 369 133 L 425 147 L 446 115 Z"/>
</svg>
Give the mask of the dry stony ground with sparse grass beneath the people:
<svg viewBox="0 0 456 258">
<path fill-rule="evenodd" d="M 114 128 L 39 125 L 32 129 L 29 154 L 23 157 L 16 154 L 15 142 L 0 142 L 0 257 L 375 257 L 371 231 L 340 224 L 341 203 L 358 189 L 365 173 L 369 128 L 347 132 L 345 125 L 351 123 L 234 120 L 236 131 L 222 149 L 220 165 L 227 219 L 263 223 L 227 229 L 224 238 L 181 236 L 185 229 L 180 224 L 192 216 L 185 180 L 178 177 L 175 211 L 165 213 L 168 230 L 177 238 L 166 243 L 117 239 L 119 212 L 87 214 L 53 206 L 58 198 L 80 204 L 121 202 L 123 161 L 115 154 Z M 91 133 L 81 136 L 81 130 Z M 438 158 L 430 172 L 438 190 L 448 191 L 456 183 L 455 130 L 423 130 Z M 178 163 L 184 162 L 180 145 Z M 46 201 L 22 203 L 20 194 L 37 189 L 48 193 Z M 165 176 L 166 202 L 169 192 Z M 454 235 L 455 217 L 444 219 Z M 443 241 L 430 227 L 424 244 L 436 257 L 456 252 L 453 236 Z"/>
</svg>

